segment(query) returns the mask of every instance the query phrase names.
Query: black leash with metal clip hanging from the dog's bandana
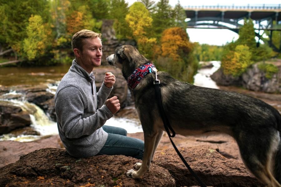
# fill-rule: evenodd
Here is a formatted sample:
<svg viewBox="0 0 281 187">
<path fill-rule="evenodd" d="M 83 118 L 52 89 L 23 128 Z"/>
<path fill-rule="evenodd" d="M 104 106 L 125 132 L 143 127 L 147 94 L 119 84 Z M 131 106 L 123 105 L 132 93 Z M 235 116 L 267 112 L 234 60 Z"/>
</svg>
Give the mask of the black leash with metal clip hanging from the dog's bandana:
<svg viewBox="0 0 281 187">
<path fill-rule="evenodd" d="M 168 136 L 170 138 L 170 141 L 173 145 L 173 147 L 175 148 L 175 151 L 178 153 L 178 155 L 180 156 L 180 159 L 183 161 L 183 163 L 185 164 L 185 166 L 187 167 L 187 169 L 190 171 L 190 173 L 195 177 L 195 179 L 198 181 L 198 183 L 201 185 L 201 187 L 207 187 L 204 182 L 202 182 L 202 180 L 195 174 L 195 172 L 190 168 L 190 166 L 188 165 L 188 163 L 185 161 L 184 157 L 180 154 L 180 151 L 177 149 L 177 147 L 175 146 L 175 143 L 172 141 L 171 137 L 175 137 L 175 131 L 173 130 L 173 128 L 171 127 L 169 120 L 167 118 L 167 116 L 165 115 L 164 109 L 163 109 L 163 105 L 162 105 L 162 100 L 161 100 L 161 90 L 160 90 L 160 81 L 157 79 L 157 73 L 156 74 L 156 79 L 154 81 L 154 88 L 155 88 L 155 95 L 156 95 L 156 99 L 157 99 L 157 104 L 158 104 L 158 108 L 160 111 L 160 116 L 162 118 L 162 121 L 164 123 L 164 127 L 165 130 L 168 133 Z M 170 131 L 172 132 L 172 135 L 170 134 Z"/>
</svg>

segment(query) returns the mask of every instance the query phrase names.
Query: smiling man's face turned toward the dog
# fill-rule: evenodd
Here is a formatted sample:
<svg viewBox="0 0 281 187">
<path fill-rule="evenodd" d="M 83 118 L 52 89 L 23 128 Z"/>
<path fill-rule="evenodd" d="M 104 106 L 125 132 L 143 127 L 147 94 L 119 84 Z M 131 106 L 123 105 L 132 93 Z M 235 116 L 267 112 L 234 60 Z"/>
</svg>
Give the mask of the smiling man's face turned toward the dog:
<svg viewBox="0 0 281 187">
<path fill-rule="evenodd" d="M 102 45 L 101 39 L 86 38 L 83 41 L 83 47 L 81 51 L 81 63 L 86 67 L 98 67 L 101 65 Z"/>
</svg>

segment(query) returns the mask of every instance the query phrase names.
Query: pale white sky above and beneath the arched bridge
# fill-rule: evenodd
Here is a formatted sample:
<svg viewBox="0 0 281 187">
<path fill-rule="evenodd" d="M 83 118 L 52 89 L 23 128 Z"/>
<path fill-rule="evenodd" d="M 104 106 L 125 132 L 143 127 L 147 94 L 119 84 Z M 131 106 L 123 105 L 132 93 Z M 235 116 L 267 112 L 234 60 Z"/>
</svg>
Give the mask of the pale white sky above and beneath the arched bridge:
<svg viewBox="0 0 281 187">
<path fill-rule="evenodd" d="M 159 0 L 154 0 L 158 2 Z M 126 0 L 129 3 L 129 6 L 136 2 L 136 0 Z M 177 4 L 177 0 L 170 0 L 169 3 L 171 6 Z M 202 6 L 202 5 L 279 5 L 281 4 L 280 0 L 180 0 L 181 6 Z M 225 45 L 227 42 L 232 40 L 237 40 L 238 34 L 228 29 L 187 29 L 186 30 L 190 41 L 199 42 L 200 44 L 209 44 L 209 45 Z"/>
</svg>

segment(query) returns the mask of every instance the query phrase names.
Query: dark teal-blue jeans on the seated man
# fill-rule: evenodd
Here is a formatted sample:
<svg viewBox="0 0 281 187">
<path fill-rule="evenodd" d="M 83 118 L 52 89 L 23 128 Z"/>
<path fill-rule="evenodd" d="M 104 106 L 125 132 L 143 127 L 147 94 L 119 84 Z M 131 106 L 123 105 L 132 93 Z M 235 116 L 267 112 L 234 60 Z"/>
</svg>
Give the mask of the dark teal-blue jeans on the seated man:
<svg viewBox="0 0 281 187">
<path fill-rule="evenodd" d="M 97 155 L 125 155 L 142 160 L 144 152 L 142 140 L 127 137 L 127 131 L 120 127 L 104 125 L 102 128 L 108 133 L 108 137 Z"/>
</svg>

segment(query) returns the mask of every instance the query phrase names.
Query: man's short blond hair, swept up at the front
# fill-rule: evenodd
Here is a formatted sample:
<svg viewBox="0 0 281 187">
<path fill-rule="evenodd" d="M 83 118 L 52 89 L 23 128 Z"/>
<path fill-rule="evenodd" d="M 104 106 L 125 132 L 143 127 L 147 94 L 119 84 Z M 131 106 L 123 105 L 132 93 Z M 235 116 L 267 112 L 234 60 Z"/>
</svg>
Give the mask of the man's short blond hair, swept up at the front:
<svg viewBox="0 0 281 187">
<path fill-rule="evenodd" d="M 94 31 L 90 31 L 87 29 L 83 29 L 81 31 L 76 32 L 72 38 L 71 38 L 71 47 L 72 49 L 79 49 L 82 51 L 83 47 L 83 40 L 86 38 L 100 38 L 101 39 L 101 33 L 96 33 Z"/>
</svg>

